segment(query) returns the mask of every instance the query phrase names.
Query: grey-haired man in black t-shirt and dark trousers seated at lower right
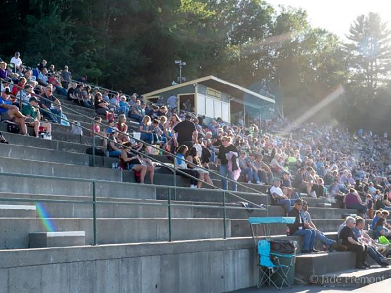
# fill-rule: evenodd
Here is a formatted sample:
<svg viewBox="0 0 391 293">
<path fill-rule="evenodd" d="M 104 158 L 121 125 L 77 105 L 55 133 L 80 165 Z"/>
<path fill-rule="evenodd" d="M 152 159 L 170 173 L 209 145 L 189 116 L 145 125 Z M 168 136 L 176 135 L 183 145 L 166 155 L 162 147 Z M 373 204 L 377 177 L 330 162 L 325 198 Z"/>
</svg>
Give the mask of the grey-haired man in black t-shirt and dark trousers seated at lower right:
<svg viewBox="0 0 391 293">
<path fill-rule="evenodd" d="M 367 246 L 358 242 L 353 231 L 355 226 L 356 220 L 353 217 L 348 217 L 346 219 L 346 226 L 341 230 L 339 238 L 342 239 L 342 245 L 347 246 L 347 251 L 356 252 L 356 268 L 369 268 L 370 266 L 365 262 Z"/>
</svg>

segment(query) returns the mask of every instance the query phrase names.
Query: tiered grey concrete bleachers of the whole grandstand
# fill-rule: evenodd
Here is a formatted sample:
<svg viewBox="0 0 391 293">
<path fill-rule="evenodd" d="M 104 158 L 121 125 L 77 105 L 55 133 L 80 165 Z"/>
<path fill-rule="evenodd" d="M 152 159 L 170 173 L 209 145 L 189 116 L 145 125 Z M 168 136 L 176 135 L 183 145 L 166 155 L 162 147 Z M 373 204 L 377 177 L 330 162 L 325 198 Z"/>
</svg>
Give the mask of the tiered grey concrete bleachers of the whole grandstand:
<svg viewBox="0 0 391 293">
<path fill-rule="evenodd" d="M 63 105 L 69 105 L 89 117 L 94 116 L 93 110 L 72 105 L 71 102 L 60 98 Z M 91 125 L 85 117 L 67 110 L 64 113 L 71 120 L 81 121 L 82 125 L 87 128 Z M 137 126 L 131 121 L 128 122 L 128 125 L 132 127 L 130 129 L 135 129 L 134 127 Z M 0 131 L 4 131 L 5 128 L 6 126 L 0 123 Z M 29 253 L 29 234 L 48 232 L 45 222 L 50 222 L 56 232 L 83 231 L 85 232 L 85 243 L 91 245 L 93 243 L 92 183 L 87 179 L 96 180 L 97 241 L 99 244 L 134 243 L 147 245 L 145 242 L 163 242 L 156 243 L 156 245 L 166 247 L 169 234 L 167 207 L 169 194 L 171 195 L 171 203 L 174 204 L 171 207 L 171 229 L 174 241 L 193 240 L 198 241 L 198 245 L 207 246 L 210 245 L 210 239 L 223 237 L 224 212 L 221 209 L 223 191 L 208 188 L 202 190 L 180 188 L 175 192 L 172 188 L 174 175 L 170 174 L 155 174 L 155 184 L 153 185 L 148 184 L 147 175 L 147 184 L 138 184 L 135 183 L 133 172 L 112 169 L 112 163 L 117 162 L 113 158 L 96 157 L 95 167 L 92 167 L 92 156 L 86 154 L 86 149 L 90 147 L 92 138 L 87 133 L 82 137 L 72 135 L 70 128 L 53 125 L 53 140 L 4 133 L 10 144 L 0 145 L 0 256 L 7 255 L 6 249 L 19 249 L 25 251 L 26 254 Z M 29 129 L 29 131 L 31 130 Z M 99 145 L 98 138 L 96 145 Z M 166 163 L 170 162 L 165 156 L 154 157 Z M 1 173 L 18 173 L 20 175 L 10 176 L 1 175 Z M 23 177 L 23 174 L 43 175 L 47 178 L 29 178 Z M 221 187 L 221 180 L 218 176 L 213 178 L 216 186 Z M 179 175 L 177 175 L 176 181 L 181 187 L 189 185 L 189 181 Z M 248 190 L 245 187 L 251 187 L 258 192 Z M 269 216 L 284 215 L 280 206 L 268 206 L 267 212 L 263 209 L 253 211 L 239 209 L 242 207 L 240 202 L 245 200 L 257 205 L 266 204 L 268 201 L 265 194 L 267 188 L 268 186 L 264 185 L 243 183 L 243 186 L 238 186 L 238 192 L 235 192 L 236 196 L 228 192 L 225 193 L 228 208 L 226 211 L 226 235 L 231 240 L 233 238 L 245 239 L 242 248 L 245 247 L 250 251 L 254 249 L 251 245 L 248 217 L 262 217 L 267 214 Z M 14 201 L 16 198 L 21 201 Z M 36 201 L 32 202 L 31 199 Z M 64 203 L 61 202 L 63 200 L 85 203 Z M 309 203 L 309 211 L 314 223 L 331 238 L 336 237 L 335 232 L 343 222 L 343 214 L 357 213 L 356 210 L 351 209 L 316 207 L 317 204 L 324 203 L 324 199 L 305 197 L 305 200 Z M 38 205 L 38 203 L 40 204 Z M 41 210 L 38 208 L 43 209 L 44 214 L 39 214 Z M 285 230 L 285 225 L 273 225 L 271 232 L 273 237 L 287 239 L 287 236 L 284 236 Z M 289 236 L 289 239 L 298 242 L 298 252 L 300 252 L 303 239 L 296 236 Z M 230 243 L 231 240 L 225 240 L 225 243 Z M 64 243 L 64 246 L 66 245 L 68 244 Z M 223 246 L 224 241 L 221 241 L 219 247 Z M 47 248 L 50 251 L 60 251 L 61 249 L 69 251 L 69 248 L 67 250 L 65 248 Z M 254 257 L 253 252 L 248 253 Z M 252 270 L 252 275 L 248 283 L 238 282 L 231 284 L 232 286 L 227 285 L 228 287 L 224 287 L 224 290 L 254 286 L 256 268 L 253 262 L 250 262 L 249 267 L 251 268 L 247 268 L 246 272 Z M 0 267 L 0 272 L 5 269 L 7 268 Z M 7 273 L 9 272 L 7 271 Z M 310 255 L 299 253 L 296 258 L 297 282 L 310 283 L 309 278 L 313 274 L 386 277 L 390 276 L 391 269 L 373 268 L 356 271 L 354 270 L 354 257 L 350 252 Z M 335 282 L 323 285 L 333 286 Z M 350 284 L 346 282 L 346 286 L 350 286 Z"/>
</svg>

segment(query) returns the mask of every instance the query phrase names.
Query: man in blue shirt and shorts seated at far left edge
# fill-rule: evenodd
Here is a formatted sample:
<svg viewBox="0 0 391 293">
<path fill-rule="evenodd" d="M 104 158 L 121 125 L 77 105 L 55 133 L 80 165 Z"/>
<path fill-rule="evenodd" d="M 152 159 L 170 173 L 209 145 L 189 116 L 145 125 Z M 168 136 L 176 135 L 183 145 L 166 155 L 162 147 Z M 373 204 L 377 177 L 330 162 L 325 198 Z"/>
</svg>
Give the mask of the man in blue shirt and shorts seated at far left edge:
<svg viewBox="0 0 391 293">
<path fill-rule="evenodd" d="M 9 100 L 11 92 L 9 89 L 5 89 L 1 93 L 0 97 L 0 116 L 1 120 L 8 120 L 15 122 L 19 125 L 19 128 L 22 131 L 23 135 L 27 134 L 27 126 L 26 126 L 26 116 L 24 116 L 21 112 L 19 112 L 19 109 L 17 106 L 12 105 L 12 102 Z"/>
</svg>

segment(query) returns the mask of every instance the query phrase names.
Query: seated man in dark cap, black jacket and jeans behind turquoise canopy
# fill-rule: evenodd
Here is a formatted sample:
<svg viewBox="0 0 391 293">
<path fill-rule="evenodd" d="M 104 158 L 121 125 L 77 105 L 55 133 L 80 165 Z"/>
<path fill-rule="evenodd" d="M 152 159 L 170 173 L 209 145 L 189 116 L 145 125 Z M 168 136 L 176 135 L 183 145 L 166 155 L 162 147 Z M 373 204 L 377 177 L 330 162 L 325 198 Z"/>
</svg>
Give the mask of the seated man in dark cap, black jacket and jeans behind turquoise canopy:
<svg viewBox="0 0 391 293">
<path fill-rule="evenodd" d="M 303 201 L 297 199 L 293 209 L 288 213 L 289 217 L 295 217 L 295 222 L 293 224 L 288 224 L 290 234 L 304 237 L 302 253 L 319 252 L 314 249 L 316 232 L 315 230 L 309 229 L 309 224 L 304 221 L 301 214 L 302 206 Z"/>
</svg>

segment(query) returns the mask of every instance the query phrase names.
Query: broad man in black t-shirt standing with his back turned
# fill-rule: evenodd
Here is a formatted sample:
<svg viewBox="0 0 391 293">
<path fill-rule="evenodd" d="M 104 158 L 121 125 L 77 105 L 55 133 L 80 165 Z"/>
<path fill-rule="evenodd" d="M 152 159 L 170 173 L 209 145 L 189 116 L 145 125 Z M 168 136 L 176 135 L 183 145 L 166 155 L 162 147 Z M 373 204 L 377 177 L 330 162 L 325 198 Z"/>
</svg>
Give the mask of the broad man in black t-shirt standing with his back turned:
<svg viewBox="0 0 391 293">
<path fill-rule="evenodd" d="M 194 123 L 191 121 L 192 117 L 190 115 L 186 116 L 186 119 L 182 122 L 179 122 L 171 134 L 174 141 L 175 148 L 185 144 L 189 149 L 193 146 L 192 142 L 195 142 L 198 138 L 198 131 L 195 128 Z M 178 137 L 175 134 L 178 134 Z"/>
</svg>

